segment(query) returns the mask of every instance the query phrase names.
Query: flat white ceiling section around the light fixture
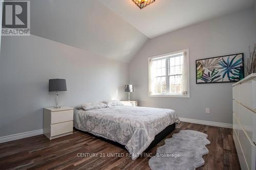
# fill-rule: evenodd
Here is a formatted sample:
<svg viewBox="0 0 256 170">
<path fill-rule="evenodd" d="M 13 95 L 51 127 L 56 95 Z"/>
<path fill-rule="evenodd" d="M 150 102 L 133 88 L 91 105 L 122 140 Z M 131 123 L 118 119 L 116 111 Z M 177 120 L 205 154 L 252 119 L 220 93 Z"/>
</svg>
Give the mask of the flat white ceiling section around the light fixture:
<svg viewBox="0 0 256 170">
<path fill-rule="evenodd" d="M 132 0 L 99 0 L 149 38 L 249 8 L 254 0 L 156 0 L 140 10 Z"/>
</svg>

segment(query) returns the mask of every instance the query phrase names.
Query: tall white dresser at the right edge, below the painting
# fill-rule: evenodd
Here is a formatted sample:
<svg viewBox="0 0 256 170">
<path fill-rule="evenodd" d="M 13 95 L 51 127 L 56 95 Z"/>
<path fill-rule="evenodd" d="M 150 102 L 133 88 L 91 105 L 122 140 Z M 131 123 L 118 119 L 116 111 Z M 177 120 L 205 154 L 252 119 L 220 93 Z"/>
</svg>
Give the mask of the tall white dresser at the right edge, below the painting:
<svg viewBox="0 0 256 170">
<path fill-rule="evenodd" d="M 233 84 L 233 139 L 242 170 L 256 170 L 256 74 Z"/>
</svg>

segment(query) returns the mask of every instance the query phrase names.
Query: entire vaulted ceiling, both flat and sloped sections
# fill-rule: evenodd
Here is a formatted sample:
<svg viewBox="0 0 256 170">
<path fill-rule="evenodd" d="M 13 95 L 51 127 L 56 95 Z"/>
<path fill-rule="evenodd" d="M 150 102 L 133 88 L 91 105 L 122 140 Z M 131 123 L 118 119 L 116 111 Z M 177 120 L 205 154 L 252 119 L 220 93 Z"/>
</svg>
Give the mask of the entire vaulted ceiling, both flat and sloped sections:
<svg viewBox="0 0 256 170">
<path fill-rule="evenodd" d="M 31 0 L 31 33 L 123 62 L 153 38 L 252 7 L 254 0 Z"/>
</svg>

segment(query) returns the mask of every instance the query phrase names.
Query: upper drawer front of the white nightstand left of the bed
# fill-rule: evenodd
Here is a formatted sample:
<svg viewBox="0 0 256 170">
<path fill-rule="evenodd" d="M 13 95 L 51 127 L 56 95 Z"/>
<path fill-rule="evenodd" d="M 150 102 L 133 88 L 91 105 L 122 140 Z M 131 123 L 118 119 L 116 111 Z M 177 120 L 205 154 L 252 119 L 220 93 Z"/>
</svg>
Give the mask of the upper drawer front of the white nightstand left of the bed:
<svg viewBox="0 0 256 170">
<path fill-rule="evenodd" d="M 73 110 L 51 112 L 51 124 L 73 120 Z"/>
</svg>

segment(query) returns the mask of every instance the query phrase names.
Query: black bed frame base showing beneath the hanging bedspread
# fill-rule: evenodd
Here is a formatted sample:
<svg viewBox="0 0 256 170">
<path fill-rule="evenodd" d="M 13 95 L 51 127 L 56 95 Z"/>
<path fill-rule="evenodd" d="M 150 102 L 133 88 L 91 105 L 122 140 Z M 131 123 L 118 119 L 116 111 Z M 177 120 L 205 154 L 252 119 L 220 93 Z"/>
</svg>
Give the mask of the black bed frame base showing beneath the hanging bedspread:
<svg viewBox="0 0 256 170">
<path fill-rule="evenodd" d="M 147 152 L 147 151 L 151 150 L 152 148 L 154 148 L 157 143 L 159 143 L 161 140 L 163 140 L 168 134 L 170 134 L 170 132 L 172 132 L 172 131 L 174 131 L 174 130 L 175 130 L 175 123 L 172 124 L 172 125 L 167 126 L 164 130 L 162 130 L 160 133 L 158 133 L 158 134 L 155 136 L 155 139 L 151 142 L 151 144 L 147 147 L 147 149 L 146 149 L 144 152 Z M 95 136 L 95 135 L 93 135 L 93 134 L 91 134 L 91 133 L 89 133 L 89 132 L 86 132 L 86 133 L 88 133 L 88 134 L 90 134 L 90 135 L 92 135 L 92 136 Z M 122 144 L 120 144 L 120 143 L 118 143 L 118 142 L 115 142 L 115 141 L 112 141 L 112 140 L 109 140 L 109 139 L 105 139 L 105 138 L 99 137 L 99 136 L 95 136 L 95 137 L 96 137 L 96 138 L 99 138 L 99 139 L 101 139 L 101 140 L 104 140 L 104 141 L 106 141 L 106 142 L 109 142 L 109 143 L 111 143 L 111 144 L 114 144 L 114 145 L 116 145 L 117 147 L 126 150 L 125 146 L 122 145 Z"/>
</svg>

